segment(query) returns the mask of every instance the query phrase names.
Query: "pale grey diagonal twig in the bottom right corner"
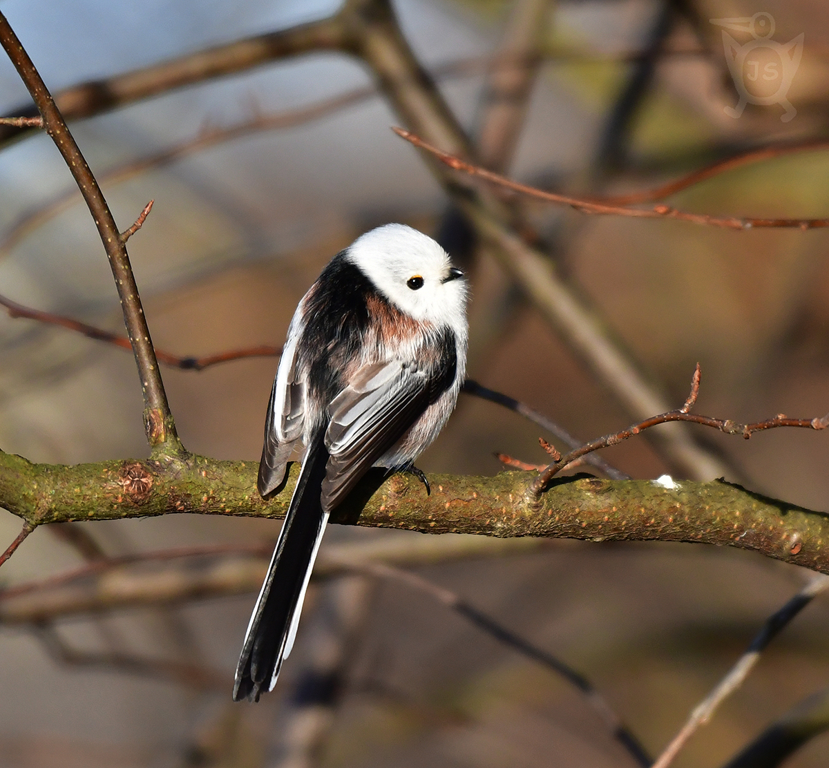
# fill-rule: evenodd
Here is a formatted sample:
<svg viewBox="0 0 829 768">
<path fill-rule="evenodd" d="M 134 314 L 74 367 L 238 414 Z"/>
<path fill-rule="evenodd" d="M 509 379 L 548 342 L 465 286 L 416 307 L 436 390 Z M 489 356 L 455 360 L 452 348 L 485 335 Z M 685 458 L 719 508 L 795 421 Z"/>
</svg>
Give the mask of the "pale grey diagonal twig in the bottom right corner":
<svg viewBox="0 0 829 768">
<path fill-rule="evenodd" d="M 680 732 L 672 739 L 671 743 L 666 747 L 653 764 L 652 768 L 667 768 L 679 753 L 681 748 L 685 746 L 688 739 L 696 732 L 696 729 L 710 720 L 716 708 L 728 698 L 731 693 L 742 685 L 744 679 L 748 677 L 749 672 L 754 669 L 760 658 L 760 654 L 766 646 L 786 627 L 788 623 L 797 616 L 800 611 L 805 608 L 814 597 L 829 587 L 829 577 L 819 575 L 812 578 L 805 587 L 797 592 L 786 605 L 779 611 L 770 616 L 768 621 L 763 626 L 763 629 L 751 641 L 745 653 L 739 657 L 737 663 L 730 669 L 729 673 L 717 683 L 708 696 L 699 703 L 691 717 L 684 726 L 681 727 Z"/>
</svg>

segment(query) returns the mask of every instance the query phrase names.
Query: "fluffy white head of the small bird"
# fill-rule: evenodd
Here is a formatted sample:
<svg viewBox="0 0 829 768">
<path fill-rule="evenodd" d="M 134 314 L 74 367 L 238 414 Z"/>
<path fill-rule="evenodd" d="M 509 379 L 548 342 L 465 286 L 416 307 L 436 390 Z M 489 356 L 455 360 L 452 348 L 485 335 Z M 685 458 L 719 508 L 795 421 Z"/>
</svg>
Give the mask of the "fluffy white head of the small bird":
<svg viewBox="0 0 829 768">
<path fill-rule="evenodd" d="M 428 235 L 387 224 L 357 238 L 347 258 L 407 315 L 466 335 L 467 282 Z"/>
</svg>

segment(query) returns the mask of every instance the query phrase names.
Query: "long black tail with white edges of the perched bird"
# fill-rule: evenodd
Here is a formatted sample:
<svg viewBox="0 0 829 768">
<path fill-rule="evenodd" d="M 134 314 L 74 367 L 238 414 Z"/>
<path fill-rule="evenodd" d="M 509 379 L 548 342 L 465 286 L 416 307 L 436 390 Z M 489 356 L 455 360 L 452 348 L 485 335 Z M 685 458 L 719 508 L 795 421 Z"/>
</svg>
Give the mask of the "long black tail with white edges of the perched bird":
<svg viewBox="0 0 829 768">
<path fill-rule="evenodd" d="M 320 503 L 327 459 L 320 432 L 305 454 L 268 575 L 250 616 L 236 667 L 234 701 L 259 701 L 261 693 L 272 690 L 282 662 L 291 652 L 308 579 L 328 519 Z"/>
</svg>

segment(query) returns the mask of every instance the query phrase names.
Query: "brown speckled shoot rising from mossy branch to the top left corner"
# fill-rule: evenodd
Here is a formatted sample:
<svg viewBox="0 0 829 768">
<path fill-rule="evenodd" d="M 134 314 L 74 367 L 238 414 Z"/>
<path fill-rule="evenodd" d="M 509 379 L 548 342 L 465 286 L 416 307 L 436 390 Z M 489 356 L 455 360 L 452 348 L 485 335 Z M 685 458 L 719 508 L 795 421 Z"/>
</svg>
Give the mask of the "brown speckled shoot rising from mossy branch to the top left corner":
<svg viewBox="0 0 829 768">
<path fill-rule="evenodd" d="M 115 225 L 109 205 L 80 152 L 75 138 L 66 127 L 65 120 L 60 110 L 57 109 L 41 75 L 2 13 L 0 13 L 0 44 L 12 60 L 17 74 L 29 89 L 29 93 L 32 94 L 32 99 L 43 118 L 46 133 L 55 142 L 70 173 L 80 187 L 81 194 L 95 220 L 101 242 L 104 244 L 115 279 L 115 287 L 121 300 L 121 307 L 124 310 L 127 335 L 133 346 L 136 365 L 138 365 L 138 376 L 144 396 L 144 425 L 148 442 L 153 449 L 158 447 L 168 453 L 181 453 L 183 447 L 176 433 L 176 425 L 167 403 L 167 394 L 164 392 L 161 374 L 158 371 L 158 360 L 153 350 L 153 342 L 150 341 L 150 331 L 144 317 L 141 298 L 138 296 L 138 286 L 135 284 L 127 249 Z"/>
</svg>

